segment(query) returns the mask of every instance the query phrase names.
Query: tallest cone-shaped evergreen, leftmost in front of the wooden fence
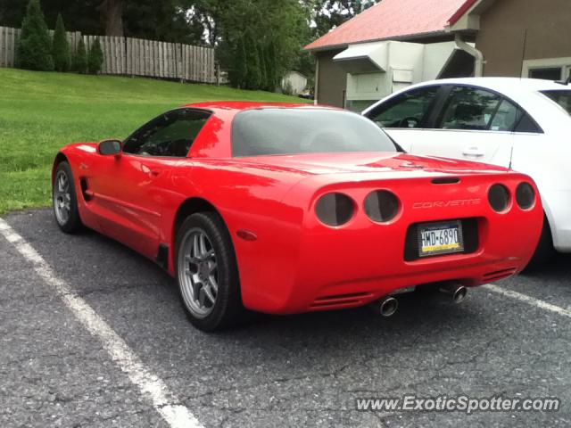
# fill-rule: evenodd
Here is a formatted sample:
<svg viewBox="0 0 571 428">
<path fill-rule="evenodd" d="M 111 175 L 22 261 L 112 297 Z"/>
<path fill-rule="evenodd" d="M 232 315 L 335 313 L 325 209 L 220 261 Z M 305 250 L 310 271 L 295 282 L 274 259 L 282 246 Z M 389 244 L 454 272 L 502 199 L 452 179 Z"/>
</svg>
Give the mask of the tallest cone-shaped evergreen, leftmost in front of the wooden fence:
<svg viewBox="0 0 571 428">
<path fill-rule="evenodd" d="M 26 16 L 21 24 L 18 63 L 22 69 L 54 70 L 52 40 L 39 0 L 29 0 Z"/>
</svg>

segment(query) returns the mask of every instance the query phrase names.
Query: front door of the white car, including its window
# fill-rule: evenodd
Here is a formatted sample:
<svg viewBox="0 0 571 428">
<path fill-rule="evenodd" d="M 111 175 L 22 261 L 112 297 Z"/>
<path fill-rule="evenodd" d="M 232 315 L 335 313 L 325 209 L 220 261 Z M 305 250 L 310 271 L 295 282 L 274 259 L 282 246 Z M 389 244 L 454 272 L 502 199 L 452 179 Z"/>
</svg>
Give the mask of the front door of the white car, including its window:
<svg viewBox="0 0 571 428">
<path fill-rule="evenodd" d="M 406 152 L 422 143 L 428 119 L 437 104 L 441 86 L 422 86 L 389 98 L 365 113 L 368 119 L 393 138 Z"/>
</svg>

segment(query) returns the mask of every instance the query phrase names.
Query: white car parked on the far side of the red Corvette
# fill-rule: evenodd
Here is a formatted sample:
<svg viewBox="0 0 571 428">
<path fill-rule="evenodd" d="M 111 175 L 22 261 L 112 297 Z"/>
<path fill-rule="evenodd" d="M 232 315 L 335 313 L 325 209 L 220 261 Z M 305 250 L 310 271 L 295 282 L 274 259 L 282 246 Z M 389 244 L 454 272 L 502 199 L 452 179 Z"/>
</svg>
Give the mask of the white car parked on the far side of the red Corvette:
<svg viewBox="0 0 571 428">
<path fill-rule="evenodd" d="M 547 222 L 537 264 L 571 252 L 571 86 L 454 78 L 409 86 L 363 114 L 412 154 L 501 165 L 534 178 Z M 521 231 L 525 234 L 525 230 Z"/>
</svg>

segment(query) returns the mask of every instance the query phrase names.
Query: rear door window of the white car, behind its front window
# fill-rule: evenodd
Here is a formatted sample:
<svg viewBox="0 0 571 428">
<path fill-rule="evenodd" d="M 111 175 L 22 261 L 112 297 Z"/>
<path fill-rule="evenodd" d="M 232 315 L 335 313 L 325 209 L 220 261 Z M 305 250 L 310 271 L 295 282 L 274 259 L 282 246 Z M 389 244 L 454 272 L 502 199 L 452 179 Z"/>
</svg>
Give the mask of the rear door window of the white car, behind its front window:
<svg viewBox="0 0 571 428">
<path fill-rule="evenodd" d="M 487 130 L 500 103 L 500 95 L 475 87 L 455 86 L 438 118 L 438 128 Z"/>
</svg>

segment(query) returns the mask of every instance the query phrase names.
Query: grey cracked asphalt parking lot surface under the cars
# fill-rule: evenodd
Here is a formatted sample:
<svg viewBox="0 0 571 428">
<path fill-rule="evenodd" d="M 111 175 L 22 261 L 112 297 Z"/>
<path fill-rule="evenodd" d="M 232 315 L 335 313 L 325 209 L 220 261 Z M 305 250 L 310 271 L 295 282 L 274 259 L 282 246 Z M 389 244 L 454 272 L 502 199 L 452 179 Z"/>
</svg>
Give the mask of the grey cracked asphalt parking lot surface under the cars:
<svg viewBox="0 0 571 428">
<path fill-rule="evenodd" d="M 5 220 L 205 427 L 571 425 L 571 257 L 500 283 L 529 301 L 486 288 L 460 305 L 407 295 L 391 318 L 260 317 L 206 334 L 186 321 L 170 276 L 119 243 L 62 235 L 50 210 Z M 0 254 L 0 426 L 173 426 L 3 236 Z M 406 394 L 557 397 L 562 407 L 356 410 L 357 398 Z"/>
</svg>

